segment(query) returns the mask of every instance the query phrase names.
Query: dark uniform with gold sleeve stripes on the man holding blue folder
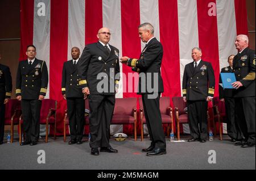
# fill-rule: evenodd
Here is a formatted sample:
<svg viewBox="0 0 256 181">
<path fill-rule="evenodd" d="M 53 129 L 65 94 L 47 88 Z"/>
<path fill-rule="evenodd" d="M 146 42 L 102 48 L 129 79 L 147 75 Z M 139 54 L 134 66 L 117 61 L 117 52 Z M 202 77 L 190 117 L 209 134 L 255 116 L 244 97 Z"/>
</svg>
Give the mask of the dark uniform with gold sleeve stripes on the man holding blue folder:
<svg viewBox="0 0 256 181">
<path fill-rule="evenodd" d="M 246 145 L 255 145 L 255 50 L 245 48 L 234 56 L 233 72 L 243 85 L 233 92 L 236 121 Z"/>
</svg>

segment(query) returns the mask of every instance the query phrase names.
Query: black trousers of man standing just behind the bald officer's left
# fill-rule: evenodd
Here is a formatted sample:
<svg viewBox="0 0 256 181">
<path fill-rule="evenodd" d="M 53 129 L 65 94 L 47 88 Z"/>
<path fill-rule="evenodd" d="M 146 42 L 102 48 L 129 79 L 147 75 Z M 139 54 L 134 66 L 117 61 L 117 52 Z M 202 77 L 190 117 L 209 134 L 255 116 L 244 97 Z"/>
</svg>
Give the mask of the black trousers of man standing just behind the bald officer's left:
<svg viewBox="0 0 256 181">
<path fill-rule="evenodd" d="M 84 98 L 67 98 L 70 136 L 73 141 L 81 141 L 84 132 Z"/>
</svg>

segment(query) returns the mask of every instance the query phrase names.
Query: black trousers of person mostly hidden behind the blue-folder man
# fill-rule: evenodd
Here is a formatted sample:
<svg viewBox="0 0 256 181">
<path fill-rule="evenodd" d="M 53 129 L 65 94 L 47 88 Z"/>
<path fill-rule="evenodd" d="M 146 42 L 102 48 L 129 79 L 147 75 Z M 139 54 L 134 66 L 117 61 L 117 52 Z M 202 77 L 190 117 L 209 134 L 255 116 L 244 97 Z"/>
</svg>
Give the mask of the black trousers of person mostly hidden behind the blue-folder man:
<svg viewBox="0 0 256 181">
<path fill-rule="evenodd" d="M 230 138 L 241 140 L 242 135 L 235 120 L 235 102 L 234 98 L 225 97 L 226 124 L 228 127 L 228 135 Z"/>
</svg>

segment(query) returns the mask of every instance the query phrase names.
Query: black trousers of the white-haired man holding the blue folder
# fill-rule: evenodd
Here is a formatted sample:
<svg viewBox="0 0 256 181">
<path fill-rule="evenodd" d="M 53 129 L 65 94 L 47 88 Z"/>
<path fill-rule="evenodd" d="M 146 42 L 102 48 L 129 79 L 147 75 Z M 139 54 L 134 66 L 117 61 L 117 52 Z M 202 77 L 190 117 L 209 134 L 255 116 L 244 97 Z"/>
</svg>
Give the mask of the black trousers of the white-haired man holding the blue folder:
<svg viewBox="0 0 256 181">
<path fill-rule="evenodd" d="M 255 97 L 235 98 L 235 114 L 242 136 L 255 144 Z"/>
</svg>

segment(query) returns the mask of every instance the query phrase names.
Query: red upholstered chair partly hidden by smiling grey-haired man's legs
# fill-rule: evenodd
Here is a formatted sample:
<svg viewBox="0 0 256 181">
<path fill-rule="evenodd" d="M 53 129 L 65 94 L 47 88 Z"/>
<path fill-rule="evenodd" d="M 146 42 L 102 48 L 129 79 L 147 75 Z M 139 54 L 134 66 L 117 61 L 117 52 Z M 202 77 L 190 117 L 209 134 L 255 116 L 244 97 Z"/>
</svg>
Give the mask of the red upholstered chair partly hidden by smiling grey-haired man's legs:
<svg viewBox="0 0 256 181">
<path fill-rule="evenodd" d="M 172 102 L 175 107 L 175 120 L 177 125 L 177 140 L 180 140 L 180 123 L 188 123 L 188 114 L 184 111 L 187 103 L 184 102 L 183 97 L 173 97 Z"/>
</svg>

